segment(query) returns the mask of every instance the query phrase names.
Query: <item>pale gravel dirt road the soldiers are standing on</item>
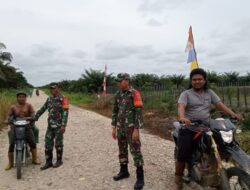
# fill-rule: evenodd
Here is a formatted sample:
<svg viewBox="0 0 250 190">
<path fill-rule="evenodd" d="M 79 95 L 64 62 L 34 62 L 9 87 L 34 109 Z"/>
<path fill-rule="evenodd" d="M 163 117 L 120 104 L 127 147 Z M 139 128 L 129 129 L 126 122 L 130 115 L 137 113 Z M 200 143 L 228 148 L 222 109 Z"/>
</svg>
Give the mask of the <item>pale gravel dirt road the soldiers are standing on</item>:
<svg viewBox="0 0 250 190">
<path fill-rule="evenodd" d="M 37 110 L 46 95 L 29 98 Z M 44 134 L 47 113 L 37 122 L 40 128 L 39 157 L 44 164 Z M 130 156 L 130 178 L 115 182 L 112 176 L 119 170 L 117 142 L 111 138 L 110 119 L 70 106 L 64 141 L 62 167 L 40 171 L 40 166 L 29 164 L 21 180 L 16 170 L 4 171 L 7 164 L 7 131 L 0 134 L 0 190 L 132 190 L 135 168 Z M 172 142 L 141 131 L 142 152 L 145 159 L 145 190 L 172 189 L 174 161 Z"/>
</svg>

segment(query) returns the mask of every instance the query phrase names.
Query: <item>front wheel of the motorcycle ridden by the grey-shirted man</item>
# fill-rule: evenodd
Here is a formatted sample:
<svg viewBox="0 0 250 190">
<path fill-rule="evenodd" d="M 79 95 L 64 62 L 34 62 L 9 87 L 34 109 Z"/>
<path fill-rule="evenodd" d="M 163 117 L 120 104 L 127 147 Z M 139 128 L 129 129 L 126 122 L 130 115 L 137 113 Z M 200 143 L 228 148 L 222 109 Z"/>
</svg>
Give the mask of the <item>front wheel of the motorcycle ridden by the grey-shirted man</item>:
<svg viewBox="0 0 250 190">
<path fill-rule="evenodd" d="M 250 190 L 250 175 L 244 170 L 232 167 L 227 169 L 230 187 L 233 190 Z"/>
</svg>

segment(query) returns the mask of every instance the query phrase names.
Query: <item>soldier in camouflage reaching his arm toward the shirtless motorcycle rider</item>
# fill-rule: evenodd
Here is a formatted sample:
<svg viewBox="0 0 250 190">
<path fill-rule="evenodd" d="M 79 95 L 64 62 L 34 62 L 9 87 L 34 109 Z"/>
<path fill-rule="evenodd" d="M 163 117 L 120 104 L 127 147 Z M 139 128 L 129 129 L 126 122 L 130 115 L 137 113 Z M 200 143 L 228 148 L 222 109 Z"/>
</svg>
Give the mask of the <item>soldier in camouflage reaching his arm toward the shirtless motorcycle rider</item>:
<svg viewBox="0 0 250 190">
<path fill-rule="evenodd" d="M 67 97 L 62 96 L 57 83 L 50 85 L 50 96 L 45 104 L 37 111 L 34 119 L 38 118 L 48 109 L 48 128 L 45 134 L 45 156 L 46 163 L 41 170 L 48 169 L 50 167 L 57 168 L 63 164 L 63 134 L 68 120 L 68 100 Z M 53 147 L 55 141 L 55 148 L 57 154 L 57 161 L 53 165 Z"/>
</svg>

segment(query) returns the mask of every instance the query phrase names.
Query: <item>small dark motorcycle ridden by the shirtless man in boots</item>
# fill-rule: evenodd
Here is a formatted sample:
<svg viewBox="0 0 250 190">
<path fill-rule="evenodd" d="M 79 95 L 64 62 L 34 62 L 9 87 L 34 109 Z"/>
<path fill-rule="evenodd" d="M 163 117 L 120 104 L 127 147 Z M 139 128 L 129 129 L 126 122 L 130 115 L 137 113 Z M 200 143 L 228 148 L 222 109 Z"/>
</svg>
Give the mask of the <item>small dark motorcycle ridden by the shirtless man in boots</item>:
<svg viewBox="0 0 250 190">
<path fill-rule="evenodd" d="M 27 157 L 30 156 L 30 148 L 25 140 L 25 132 L 31 118 L 17 118 L 9 122 L 14 125 L 14 166 L 16 167 L 17 179 L 22 177 L 22 167 L 27 165 Z"/>
</svg>

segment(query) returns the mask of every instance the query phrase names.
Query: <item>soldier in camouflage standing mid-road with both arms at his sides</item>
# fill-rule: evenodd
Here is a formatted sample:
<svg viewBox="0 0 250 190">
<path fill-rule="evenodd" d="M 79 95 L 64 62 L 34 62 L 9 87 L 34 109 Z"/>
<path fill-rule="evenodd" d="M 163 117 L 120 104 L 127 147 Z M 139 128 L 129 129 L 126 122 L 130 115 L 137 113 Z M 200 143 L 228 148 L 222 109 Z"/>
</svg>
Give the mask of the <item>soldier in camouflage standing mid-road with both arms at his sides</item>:
<svg viewBox="0 0 250 190">
<path fill-rule="evenodd" d="M 134 165 L 137 167 L 137 181 L 134 189 L 144 186 L 143 156 L 139 129 L 143 126 L 142 99 L 139 91 L 129 86 L 129 74 L 117 75 L 119 91 L 115 96 L 112 115 L 112 136 L 118 139 L 120 172 L 113 177 L 115 181 L 128 178 L 128 145 L 133 155 Z"/>
</svg>

